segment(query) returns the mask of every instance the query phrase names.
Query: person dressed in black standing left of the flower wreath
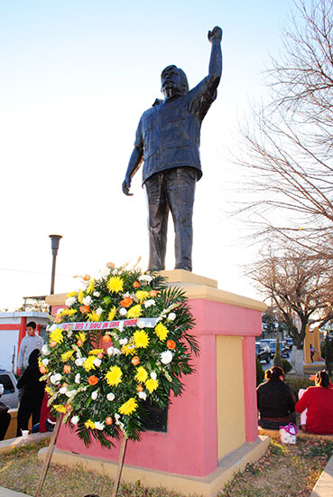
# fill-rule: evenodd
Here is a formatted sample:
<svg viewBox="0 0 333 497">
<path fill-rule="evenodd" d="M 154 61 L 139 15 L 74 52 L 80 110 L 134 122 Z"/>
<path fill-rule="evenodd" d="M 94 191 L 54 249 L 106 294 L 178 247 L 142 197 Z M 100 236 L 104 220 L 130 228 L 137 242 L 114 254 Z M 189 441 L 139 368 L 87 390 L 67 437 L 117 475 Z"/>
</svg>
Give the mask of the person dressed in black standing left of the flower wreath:
<svg viewBox="0 0 333 497">
<path fill-rule="evenodd" d="M 21 436 L 22 430 L 28 429 L 28 422 L 32 415 L 32 426 L 40 421 L 42 398 L 45 381 L 40 381 L 42 373 L 39 370 L 38 358 L 41 352 L 35 349 L 29 356 L 29 365 L 17 381 L 17 388 L 23 389 L 23 396 L 17 412 L 16 436 Z"/>
</svg>

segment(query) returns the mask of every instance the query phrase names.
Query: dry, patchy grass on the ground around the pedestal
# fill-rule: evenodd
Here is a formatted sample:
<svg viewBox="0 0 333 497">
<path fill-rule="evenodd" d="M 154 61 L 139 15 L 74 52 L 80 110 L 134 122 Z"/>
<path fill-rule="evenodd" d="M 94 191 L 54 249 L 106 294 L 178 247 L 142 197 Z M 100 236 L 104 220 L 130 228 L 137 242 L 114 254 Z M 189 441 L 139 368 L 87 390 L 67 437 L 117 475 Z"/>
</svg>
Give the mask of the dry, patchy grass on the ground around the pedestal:
<svg viewBox="0 0 333 497">
<path fill-rule="evenodd" d="M 0 482 L 2 486 L 34 495 L 42 462 L 38 451 L 49 444 L 43 440 L 36 445 L 24 445 L 1 456 Z M 271 442 L 266 454 L 256 463 L 247 464 L 243 473 L 235 475 L 219 497 L 307 497 L 328 458 L 333 454 L 333 443 L 327 440 L 298 439 L 296 445 Z M 68 468 L 51 464 L 43 486 L 43 497 L 83 497 L 95 493 L 109 497 L 112 480 L 105 474 L 87 471 L 82 466 Z M 193 485 L 193 494 L 196 493 Z M 121 497 L 181 497 L 162 487 L 146 488 L 139 481 L 122 483 L 118 494 Z"/>
</svg>

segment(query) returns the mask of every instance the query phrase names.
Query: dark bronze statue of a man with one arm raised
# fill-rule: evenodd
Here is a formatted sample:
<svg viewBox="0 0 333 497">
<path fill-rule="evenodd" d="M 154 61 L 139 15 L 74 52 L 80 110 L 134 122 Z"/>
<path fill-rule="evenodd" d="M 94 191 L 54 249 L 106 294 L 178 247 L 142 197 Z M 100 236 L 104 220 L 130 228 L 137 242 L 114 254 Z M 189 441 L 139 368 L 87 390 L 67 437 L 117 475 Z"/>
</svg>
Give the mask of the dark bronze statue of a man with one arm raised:
<svg viewBox="0 0 333 497">
<path fill-rule="evenodd" d="M 123 192 L 143 162 L 143 185 L 149 206 L 148 270 L 165 268 L 168 215 L 175 230 L 175 269 L 192 270 L 192 212 L 196 182 L 202 176 L 200 127 L 217 98 L 222 73 L 222 30 L 208 32 L 211 42 L 208 76 L 189 91 L 186 75 L 171 65 L 162 70 L 163 100 L 143 113 L 136 130 Z"/>
</svg>

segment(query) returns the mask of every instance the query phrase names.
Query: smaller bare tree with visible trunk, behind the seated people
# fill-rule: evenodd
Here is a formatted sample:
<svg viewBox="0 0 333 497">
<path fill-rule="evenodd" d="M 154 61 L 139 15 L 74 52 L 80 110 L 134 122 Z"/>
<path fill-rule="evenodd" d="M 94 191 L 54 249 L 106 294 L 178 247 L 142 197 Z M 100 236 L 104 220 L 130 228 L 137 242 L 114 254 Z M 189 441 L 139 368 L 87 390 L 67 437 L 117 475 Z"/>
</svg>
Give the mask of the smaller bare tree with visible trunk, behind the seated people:
<svg viewBox="0 0 333 497">
<path fill-rule="evenodd" d="M 295 369 L 302 373 L 303 342 L 308 324 L 319 327 L 333 318 L 333 263 L 289 247 L 269 248 L 248 275 L 280 314 L 295 350 Z"/>
</svg>

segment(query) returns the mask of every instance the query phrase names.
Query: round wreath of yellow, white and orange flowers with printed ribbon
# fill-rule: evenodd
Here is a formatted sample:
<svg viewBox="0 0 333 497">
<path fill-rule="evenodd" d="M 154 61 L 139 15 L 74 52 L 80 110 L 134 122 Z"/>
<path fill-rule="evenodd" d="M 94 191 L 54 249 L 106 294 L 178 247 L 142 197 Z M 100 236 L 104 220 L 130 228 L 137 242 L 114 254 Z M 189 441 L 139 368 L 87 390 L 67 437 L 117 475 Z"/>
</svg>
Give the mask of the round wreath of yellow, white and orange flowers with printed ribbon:
<svg viewBox="0 0 333 497">
<path fill-rule="evenodd" d="M 107 263 L 67 295 L 42 348 L 50 405 L 85 445 L 140 440 L 145 402 L 168 408 L 199 353 L 187 297 L 159 274 Z"/>
</svg>

